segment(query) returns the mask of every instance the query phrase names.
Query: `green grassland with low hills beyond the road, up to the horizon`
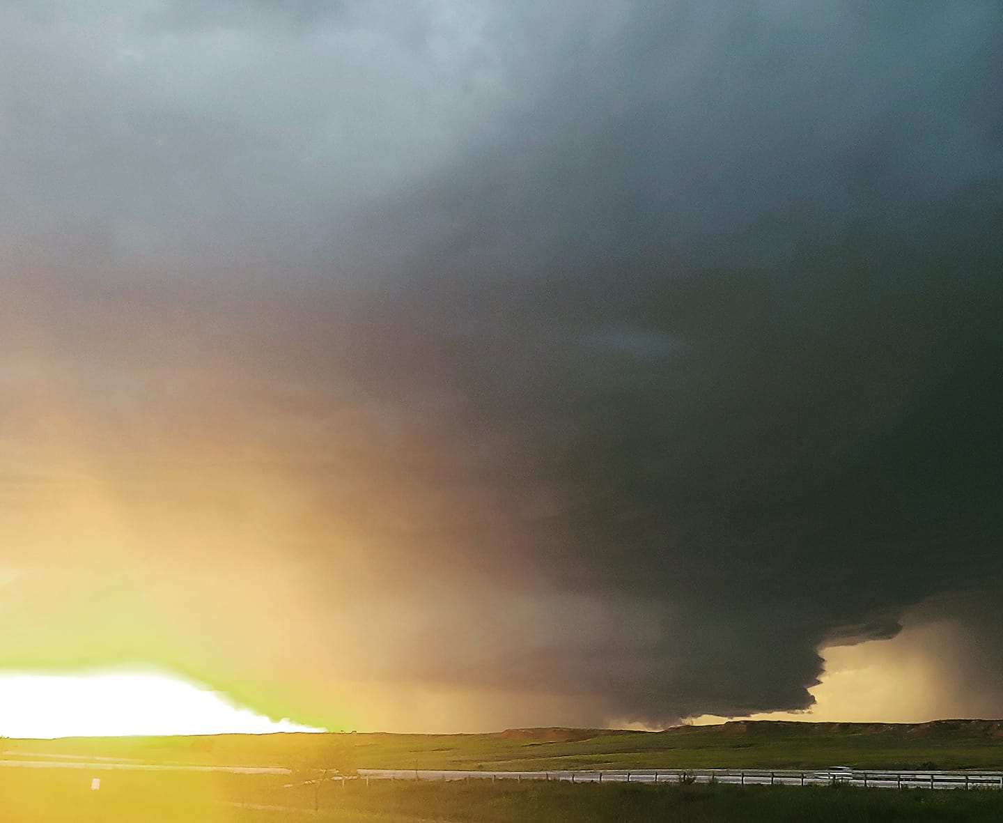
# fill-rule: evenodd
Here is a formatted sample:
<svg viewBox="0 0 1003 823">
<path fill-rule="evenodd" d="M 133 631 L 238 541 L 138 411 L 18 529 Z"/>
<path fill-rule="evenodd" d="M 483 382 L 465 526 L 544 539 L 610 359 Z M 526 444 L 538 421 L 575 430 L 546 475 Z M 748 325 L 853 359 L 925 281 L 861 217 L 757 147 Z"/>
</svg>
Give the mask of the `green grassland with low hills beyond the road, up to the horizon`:
<svg viewBox="0 0 1003 823">
<path fill-rule="evenodd" d="M 512 730 L 489 735 L 221 735 L 0 741 L 35 753 L 152 762 L 385 769 L 626 768 L 1003 770 L 1003 721 L 926 724 L 728 723 L 665 732 Z"/>
</svg>

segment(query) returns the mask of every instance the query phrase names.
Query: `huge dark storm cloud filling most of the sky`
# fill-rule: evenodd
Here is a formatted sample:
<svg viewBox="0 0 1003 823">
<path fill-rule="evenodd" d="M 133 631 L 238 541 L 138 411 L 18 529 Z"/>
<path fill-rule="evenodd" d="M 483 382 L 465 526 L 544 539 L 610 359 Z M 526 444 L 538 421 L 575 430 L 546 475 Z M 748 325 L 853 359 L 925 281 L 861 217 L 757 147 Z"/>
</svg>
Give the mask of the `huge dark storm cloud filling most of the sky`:
<svg viewBox="0 0 1003 823">
<path fill-rule="evenodd" d="M 3 35 L 5 420 L 40 337 L 157 579 L 278 552 L 286 665 L 598 723 L 804 707 L 1003 571 L 994 4 L 399 8 Z"/>
</svg>

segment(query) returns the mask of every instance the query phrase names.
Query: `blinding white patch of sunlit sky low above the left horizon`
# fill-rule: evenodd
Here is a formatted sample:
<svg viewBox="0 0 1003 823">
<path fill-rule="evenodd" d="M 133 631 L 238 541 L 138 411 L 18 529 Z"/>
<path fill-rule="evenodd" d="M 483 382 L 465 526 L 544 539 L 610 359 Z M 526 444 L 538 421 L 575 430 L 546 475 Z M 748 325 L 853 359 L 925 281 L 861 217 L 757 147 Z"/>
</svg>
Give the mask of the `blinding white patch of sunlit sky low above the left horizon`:
<svg viewBox="0 0 1003 823">
<path fill-rule="evenodd" d="M 0 735 L 11 738 L 317 731 L 163 673 L 0 675 Z"/>
</svg>

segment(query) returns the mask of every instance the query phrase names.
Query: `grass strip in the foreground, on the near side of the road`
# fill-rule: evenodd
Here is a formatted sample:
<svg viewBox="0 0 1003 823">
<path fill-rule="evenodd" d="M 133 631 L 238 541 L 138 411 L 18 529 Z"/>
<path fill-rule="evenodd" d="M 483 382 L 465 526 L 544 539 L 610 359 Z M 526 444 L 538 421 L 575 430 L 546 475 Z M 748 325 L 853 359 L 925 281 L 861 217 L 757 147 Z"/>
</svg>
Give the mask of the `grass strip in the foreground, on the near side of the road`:
<svg viewBox="0 0 1003 823">
<path fill-rule="evenodd" d="M 999 821 L 1003 793 L 849 787 L 373 783 L 284 788 L 269 776 L 3 770 L 4 823 L 869 823 Z M 30 773 L 30 774 L 29 774 Z"/>
</svg>

